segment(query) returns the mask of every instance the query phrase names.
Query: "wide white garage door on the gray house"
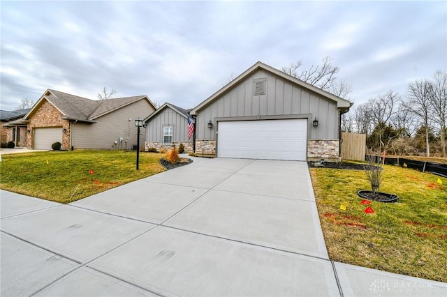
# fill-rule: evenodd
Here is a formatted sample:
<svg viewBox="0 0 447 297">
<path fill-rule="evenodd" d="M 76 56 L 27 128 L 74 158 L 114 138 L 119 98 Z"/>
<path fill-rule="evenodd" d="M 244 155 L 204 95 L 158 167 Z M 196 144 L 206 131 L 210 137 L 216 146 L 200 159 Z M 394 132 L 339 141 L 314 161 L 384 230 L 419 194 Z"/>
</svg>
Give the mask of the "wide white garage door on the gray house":
<svg viewBox="0 0 447 297">
<path fill-rule="evenodd" d="M 217 157 L 306 160 L 307 119 L 219 122 Z"/>
</svg>

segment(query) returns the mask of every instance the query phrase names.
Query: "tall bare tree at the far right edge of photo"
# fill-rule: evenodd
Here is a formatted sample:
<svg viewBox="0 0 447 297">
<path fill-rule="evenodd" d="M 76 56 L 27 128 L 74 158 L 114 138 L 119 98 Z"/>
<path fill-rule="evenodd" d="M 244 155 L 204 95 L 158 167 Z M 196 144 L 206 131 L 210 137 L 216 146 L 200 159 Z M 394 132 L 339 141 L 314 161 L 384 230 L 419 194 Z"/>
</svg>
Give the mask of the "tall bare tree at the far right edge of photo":
<svg viewBox="0 0 447 297">
<path fill-rule="evenodd" d="M 447 73 L 438 70 L 431 82 L 430 105 L 436 115 L 434 121 L 439 124 L 442 156 L 446 157 L 446 121 L 447 121 Z"/>
</svg>

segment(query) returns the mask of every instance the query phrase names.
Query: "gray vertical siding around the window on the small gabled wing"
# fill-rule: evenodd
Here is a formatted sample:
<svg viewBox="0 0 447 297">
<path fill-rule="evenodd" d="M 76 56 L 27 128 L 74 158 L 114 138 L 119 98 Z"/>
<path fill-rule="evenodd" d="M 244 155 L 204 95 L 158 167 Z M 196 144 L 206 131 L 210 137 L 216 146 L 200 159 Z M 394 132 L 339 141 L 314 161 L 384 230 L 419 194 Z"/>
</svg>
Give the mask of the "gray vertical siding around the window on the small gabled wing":
<svg viewBox="0 0 447 297">
<path fill-rule="evenodd" d="M 188 120 L 168 106 L 147 121 L 146 141 L 163 142 L 163 127 L 166 126 L 173 127 L 173 142 L 189 142 Z"/>
</svg>

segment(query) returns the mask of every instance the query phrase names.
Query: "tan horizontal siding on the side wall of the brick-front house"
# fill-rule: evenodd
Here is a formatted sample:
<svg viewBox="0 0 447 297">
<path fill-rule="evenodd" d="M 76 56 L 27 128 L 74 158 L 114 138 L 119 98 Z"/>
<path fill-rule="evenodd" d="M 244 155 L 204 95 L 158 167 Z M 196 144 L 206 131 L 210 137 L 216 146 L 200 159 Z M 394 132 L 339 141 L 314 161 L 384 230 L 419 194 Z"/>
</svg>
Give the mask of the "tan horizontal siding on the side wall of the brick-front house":
<svg viewBox="0 0 447 297">
<path fill-rule="evenodd" d="M 145 99 L 140 99 L 125 107 L 94 119 L 96 123 L 72 123 L 74 148 L 117 148 L 114 142 L 123 138 L 121 148 L 125 149 L 129 137 L 129 147 L 137 144 L 135 119 L 145 119 L 154 108 Z M 131 119 L 131 121 L 129 121 Z M 145 128 L 140 128 L 140 145 L 145 143 Z"/>
</svg>

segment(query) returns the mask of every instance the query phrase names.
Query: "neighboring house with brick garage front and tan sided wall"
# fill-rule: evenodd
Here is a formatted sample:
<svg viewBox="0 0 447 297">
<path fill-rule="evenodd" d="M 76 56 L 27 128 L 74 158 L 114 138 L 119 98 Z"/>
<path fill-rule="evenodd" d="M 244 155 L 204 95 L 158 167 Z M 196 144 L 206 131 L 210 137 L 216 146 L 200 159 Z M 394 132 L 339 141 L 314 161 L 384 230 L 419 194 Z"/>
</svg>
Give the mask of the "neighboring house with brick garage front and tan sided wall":
<svg viewBox="0 0 447 297">
<path fill-rule="evenodd" d="M 155 109 L 147 96 L 90 100 L 47 89 L 8 126 L 26 125 L 26 146 L 33 149 L 50 150 L 54 142 L 61 142 L 62 149 L 126 149 L 137 144 L 133 121 Z"/>
</svg>

